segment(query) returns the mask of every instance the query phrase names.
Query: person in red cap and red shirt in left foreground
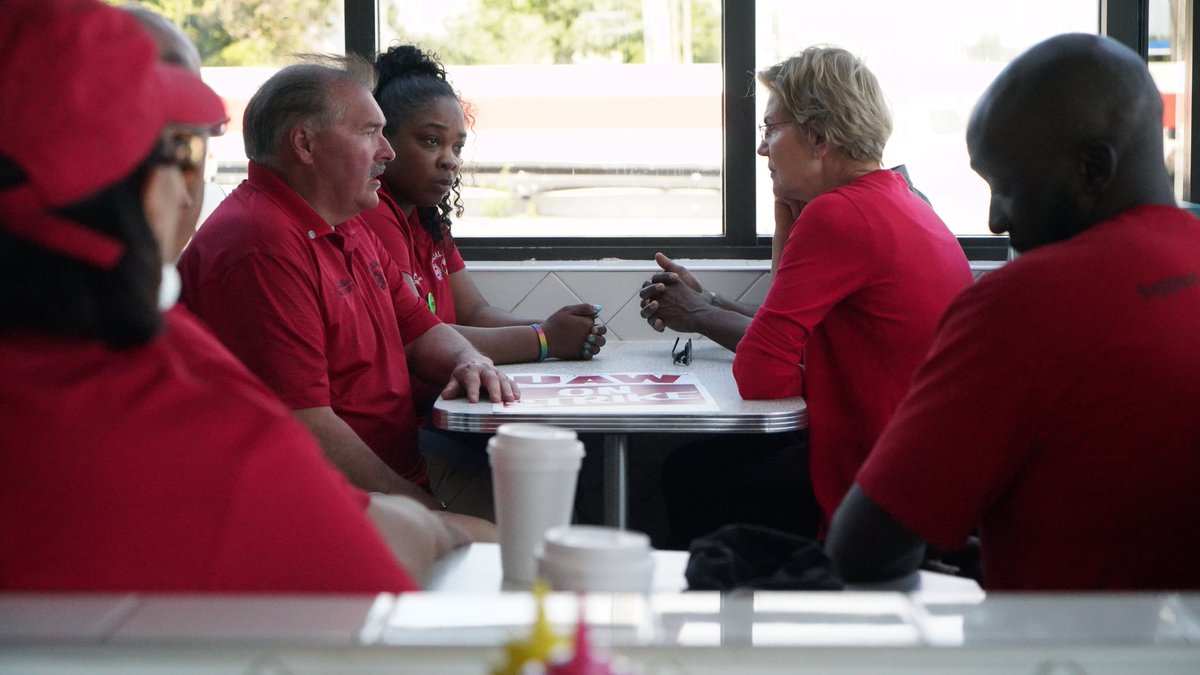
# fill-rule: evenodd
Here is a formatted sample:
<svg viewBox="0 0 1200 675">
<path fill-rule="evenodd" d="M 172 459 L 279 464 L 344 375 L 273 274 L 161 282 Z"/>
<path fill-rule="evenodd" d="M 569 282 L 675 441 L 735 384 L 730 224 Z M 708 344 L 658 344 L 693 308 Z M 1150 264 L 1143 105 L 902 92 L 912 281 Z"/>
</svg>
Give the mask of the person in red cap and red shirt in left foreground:
<svg viewBox="0 0 1200 675">
<path fill-rule="evenodd" d="M 402 563 L 466 540 L 352 488 L 199 322 L 163 313 L 184 174 L 226 113 L 130 14 L 6 1 L 0 119 L 22 130 L 0 135 L 0 589 L 400 592 Z"/>
</svg>

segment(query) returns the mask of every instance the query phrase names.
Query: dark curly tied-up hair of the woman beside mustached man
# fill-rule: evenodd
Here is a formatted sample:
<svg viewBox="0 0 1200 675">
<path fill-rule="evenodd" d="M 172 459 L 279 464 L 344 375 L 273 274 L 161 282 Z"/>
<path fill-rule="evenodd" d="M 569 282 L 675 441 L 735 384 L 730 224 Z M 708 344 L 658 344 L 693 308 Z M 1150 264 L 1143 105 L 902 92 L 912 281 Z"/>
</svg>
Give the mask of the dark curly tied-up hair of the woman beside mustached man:
<svg viewBox="0 0 1200 675">
<path fill-rule="evenodd" d="M 397 44 L 379 54 L 374 61 L 378 83 L 374 89 L 376 102 L 383 110 L 388 123 L 383 127 L 384 136 L 391 136 L 396 126 L 402 124 L 433 98 L 448 96 L 462 104 L 467 125 L 472 124 L 468 106 L 446 79 L 446 71 L 437 61 L 437 55 L 421 52 L 414 44 Z M 450 192 L 436 207 L 418 207 L 416 214 L 436 244 L 442 244 L 450 234 L 450 213 L 462 217 L 462 178 L 456 175 Z"/>
</svg>

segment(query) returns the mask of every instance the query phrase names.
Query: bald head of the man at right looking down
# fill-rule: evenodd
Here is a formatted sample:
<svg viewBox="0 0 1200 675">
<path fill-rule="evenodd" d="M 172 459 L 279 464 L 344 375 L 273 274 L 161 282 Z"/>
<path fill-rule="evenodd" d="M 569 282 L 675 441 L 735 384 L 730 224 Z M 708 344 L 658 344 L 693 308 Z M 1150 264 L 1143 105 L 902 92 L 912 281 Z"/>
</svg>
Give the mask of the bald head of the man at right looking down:
<svg viewBox="0 0 1200 675">
<path fill-rule="evenodd" d="M 967 125 L 989 226 L 1025 251 L 1141 203 L 1174 203 L 1163 103 L 1146 64 L 1096 35 L 1051 37 L 996 78 Z"/>
</svg>

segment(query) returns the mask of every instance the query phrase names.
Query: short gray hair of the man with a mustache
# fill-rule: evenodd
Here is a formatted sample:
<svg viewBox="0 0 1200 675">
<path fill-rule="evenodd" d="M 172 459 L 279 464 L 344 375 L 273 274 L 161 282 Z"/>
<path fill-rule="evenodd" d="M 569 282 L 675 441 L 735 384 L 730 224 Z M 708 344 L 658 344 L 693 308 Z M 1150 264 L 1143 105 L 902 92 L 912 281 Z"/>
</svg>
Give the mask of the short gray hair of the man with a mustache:
<svg viewBox="0 0 1200 675">
<path fill-rule="evenodd" d="M 246 156 L 272 166 L 283 138 L 296 125 L 325 129 L 341 119 L 346 106 L 337 92 L 347 86 L 374 89 L 374 67 L 358 55 L 305 55 L 305 62 L 271 76 L 250 98 L 242 118 Z"/>
</svg>

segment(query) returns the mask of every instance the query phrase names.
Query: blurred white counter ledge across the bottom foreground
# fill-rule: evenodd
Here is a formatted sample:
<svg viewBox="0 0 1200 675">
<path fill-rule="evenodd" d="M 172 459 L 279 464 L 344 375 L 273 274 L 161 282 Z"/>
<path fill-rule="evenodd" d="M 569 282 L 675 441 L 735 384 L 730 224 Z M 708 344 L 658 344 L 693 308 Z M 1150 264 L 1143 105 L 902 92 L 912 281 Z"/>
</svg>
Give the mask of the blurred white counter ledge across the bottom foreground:
<svg viewBox="0 0 1200 675">
<path fill-rule="evenodd" d="M 458 566 L 482 554 L 463 551 Z M 0 593 L 0 673 L 479 675 L 534 617 L 530 593 L 491 589 Z M 556 629 L 570 631 L 578 602 L 551 593 Z M 1200 673 L 1200 593 L 661 592 L 584 603 L 593 641 L 646 675 Z"/>
</svg>

